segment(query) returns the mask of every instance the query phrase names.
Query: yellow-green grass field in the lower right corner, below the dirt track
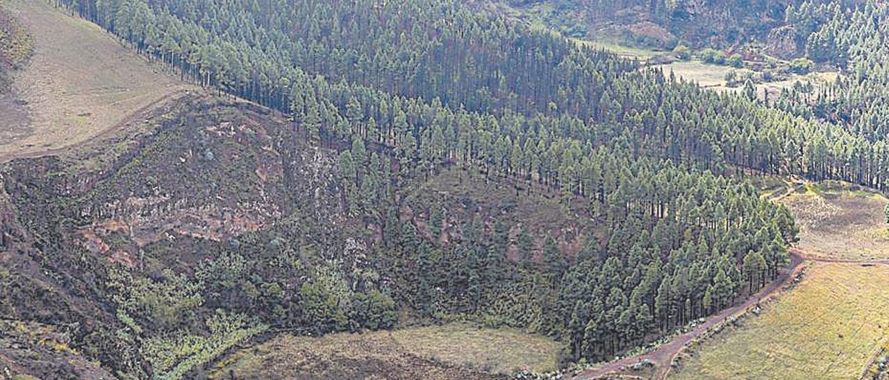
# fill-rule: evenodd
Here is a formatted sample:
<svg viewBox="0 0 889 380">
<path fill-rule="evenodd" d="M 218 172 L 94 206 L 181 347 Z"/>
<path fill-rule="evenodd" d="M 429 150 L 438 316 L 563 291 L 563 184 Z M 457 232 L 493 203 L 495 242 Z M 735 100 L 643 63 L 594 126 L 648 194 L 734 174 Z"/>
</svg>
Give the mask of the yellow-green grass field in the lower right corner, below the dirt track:
<svg viewBox="0 0 889 380">
<path fill-rule="evenodd" d="M 702 344 L 672 377 L 858 378 L 889 326 L 889 266 L 813 263 L 793 291 Z"/>
</svg>

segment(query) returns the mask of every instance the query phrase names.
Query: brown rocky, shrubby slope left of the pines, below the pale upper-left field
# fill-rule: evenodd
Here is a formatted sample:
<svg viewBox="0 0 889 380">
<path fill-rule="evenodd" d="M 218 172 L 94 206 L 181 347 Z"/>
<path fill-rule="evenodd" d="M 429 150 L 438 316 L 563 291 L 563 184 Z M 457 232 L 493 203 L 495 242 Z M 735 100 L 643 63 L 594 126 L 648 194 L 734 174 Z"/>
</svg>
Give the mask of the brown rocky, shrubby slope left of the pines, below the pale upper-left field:
<svg viewBox="0 0 889 380">
<path fill-rule="evenodd" d="M 244 297 L 238 306 L 225 292 L 236 283 L 220 285 L 223 294 L 204 297 L 216 276 L 225 275 L 212 265 L 243 262 L 234 237 L 260 231 L 300 206 L 315 211 L 324 199 L 335 200 L 337 191 L 330 179 L 331 154 L 276 150 L 266 128 L 284 139 L 277 132 L 286 124 L 268 118 L 268 111 L 194 98 L 157 110 L 151 120 L 153 127 L 135 144 L 108 151 L 108 161 L 92 168 L 68 154 L 12 162 L 4 169 L 4 246 L 9 249 L 2 255 L 14 268 L 0 291 L 4 314 L 47 324 L 81 323 L 74 346 L 98 355 L 118 373 L 180 371 L 172 366 L 178 360 L 161 352 L 172 349 L 175 339 L 192 336 L 188 326 L 220 339 L 207 340 L 198 356 L 264 329 L 235 313 L 251 307 L 243 293 L 236 295 Z M 87 151 L 94 152 L 80 152 Z M 285 165 L 297 170 L 284 170 Z M 333 192 L 330 198 L 289 201 L 292 194 L 327 192 Z M 316 214 L 331 216 L 319 220 L 327 230 L 338 229 L 331 224 L 340 222 L 333 207 Z M 274 265 L 253 258 L 257 265 Z M 229 273 L 236 279 L 242 274 Z M 257 278 L 268 275 L 262 274 Z M 263 283 L 268 281 L 256 285 Z M 275 294 L 283 295 L 287 286 L 276 284 Z M 214 314 L 222 305 L 230 313 Z M 114 335 L 118 338 L 109 341 Z M 148 352 L 148 358 L 140 352 Z"/>
</svg>

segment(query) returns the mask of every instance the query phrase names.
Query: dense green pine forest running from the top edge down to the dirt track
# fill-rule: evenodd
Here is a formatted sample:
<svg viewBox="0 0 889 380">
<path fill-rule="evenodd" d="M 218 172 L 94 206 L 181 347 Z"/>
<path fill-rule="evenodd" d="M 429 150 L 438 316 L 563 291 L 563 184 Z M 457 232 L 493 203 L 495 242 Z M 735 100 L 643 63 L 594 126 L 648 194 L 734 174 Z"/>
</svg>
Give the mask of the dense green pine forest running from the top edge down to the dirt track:
<svg viewBox="0 0 889 380">
<path fill-rule="evenodd" d="M 284 220 L 269 231 L 212 247 L 218 255 L 196 269 L 206 291 L 186 291 L 195 284 L 179 274 L 134 280 L 148 296 L 176 296 L 140 295 L 126 306 L 161 328 L 196 318 L 187 306 L 202 300 L 318 333 L 390 328 L 398 309 L 413 320 L 534 329 L 563 338 L 573 359 L 605 358 L 730 305 L 786 264 L 797 233 L 789 212 L 725 175 L 749 169 L 880 187 L 889 170 L 869 164 L 889 157 L 879 143 L 763 107 L 750 91 L 703 91 L 453 2 L 65 3 L 196 83 L 291 115 L 316 146 L 293 146 L 298 139 L 281 132 L 274 147 L 284 155 L 338 151 L 336 183 L 309 190 L 331 190 L 347 220 L 324 224 L 318 215 L 340 210 L 333 207 L 300 210 L 322 195 L 287 194 Z M 685 12 L 653 10 L 677 20 Z M 256 169 L 205 143 L 201 131 L 162 134 L 202 152 L 189 168 L 200 177 L 188 178 L 230 180 L 223 189 L 252 178 Z M 511 236 L 516 226 L 500 218 L 515 207 L 509 200 L 463 220 L 433 205 L 402 215 L 401 195 L 446 167 L 517 192 L 521 184 L 555 193 L 565 208 L 589 205 L 601 234 L 582 236 L 577 255 L 561 249 L 557 231 Z M 127 170 L 116 175 L 140 178 Z M 234 170 L 243 172 L 227 177 Z M 112 195 L 89 201 L 112 201 L 103 197 Z M 459 234 L 443 239 L 452 222 Z M 367 237 L 371 227 L 379 243 Z M 341 255 L 347 239 L 367 243 L 369 254 Z"/>
</svg>

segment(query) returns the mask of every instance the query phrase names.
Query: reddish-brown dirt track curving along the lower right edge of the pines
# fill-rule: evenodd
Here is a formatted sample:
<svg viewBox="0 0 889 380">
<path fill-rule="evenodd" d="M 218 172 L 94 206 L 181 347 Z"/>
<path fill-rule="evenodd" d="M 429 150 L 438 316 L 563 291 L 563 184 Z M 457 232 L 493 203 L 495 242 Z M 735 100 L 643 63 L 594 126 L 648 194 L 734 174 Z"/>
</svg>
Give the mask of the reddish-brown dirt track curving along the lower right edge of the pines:
<svg viewBox="0 0 889 380">
<path fill-rule="evenodd" d="M 710 316 L 706 322 L 696 326 L 694 329 L 691 329 L 685 334 L 674 337 L 673 340 L 670 341 L 668 344 L 662 344 L 652 352 L 624 358 L 622 360 L 617 360 L 605 365 L 604 367 L 589 369 L 582 372 L 578 376 L 574 376 L 574 380 L 595 379 L 609 375 L 619 375 L 624 370 L 624 368 L 628 368 L 629 366 L 632 366 L 633 364 L 636 364 L 643 360 L 649 360 L 654 364 L 654 379 L 661 380 L 667 378 L 667 375 L 669 374 L 671 368 L 670 363 L 673 362 L 673 359 L 676 358 L 676 356 L 680 352 L 685 350 L 686 345 L 691 342 L 693 338 L 700 336 L 704 332 L 713 328 L 717 325 L 717 323 L 727 321 L 729 317 L 735 314 L 743 313 L 750 307 L 757 305 L 759 302 L 780 294 L 778 290 L 783 289 L 790 283 L 790 281 L 793 281 L 793 279 L 797 277 L 799 271 L 803 269 L 803 266 L 801 266 L 800 264 L 805 261 L 861 265 L 889 265 L 889 260 L 850 260 L 842 258 L 808 257 L 802 250 L 791 248 L 790 265 L 788 266 L 788 268 L 782 271 L 778 279 L 769 283 L 765 288 L 759 290 L 755 295 L 748 297 L 747 300 L 733 305 L 732 307 L 725 309 L 724 311 L 716 315 Z"/>
</svg>

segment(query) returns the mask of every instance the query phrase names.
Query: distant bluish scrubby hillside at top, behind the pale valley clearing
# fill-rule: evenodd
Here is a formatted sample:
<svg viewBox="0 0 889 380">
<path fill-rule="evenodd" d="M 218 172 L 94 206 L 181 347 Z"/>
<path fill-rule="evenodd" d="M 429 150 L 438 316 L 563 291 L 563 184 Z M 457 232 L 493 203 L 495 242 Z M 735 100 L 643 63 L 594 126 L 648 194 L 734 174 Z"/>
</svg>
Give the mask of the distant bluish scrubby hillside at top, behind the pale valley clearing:
<svg viewBox="0 0 889 380">
<path fill-rule="evenodd" d="M 693 48 L 738 48 L 750 42 L 768 45 L 781 56 L 800 53 L 805 36 L 786 24 L 788 7 L 801 4 L 842 4 L 865 0 L 816 1 L 664 1 L 664 0 L 477 0 L 476 4 L 506 12 L 566 36 L 620 44 L 672 49 L 679 43 Z"/>
</svg>

